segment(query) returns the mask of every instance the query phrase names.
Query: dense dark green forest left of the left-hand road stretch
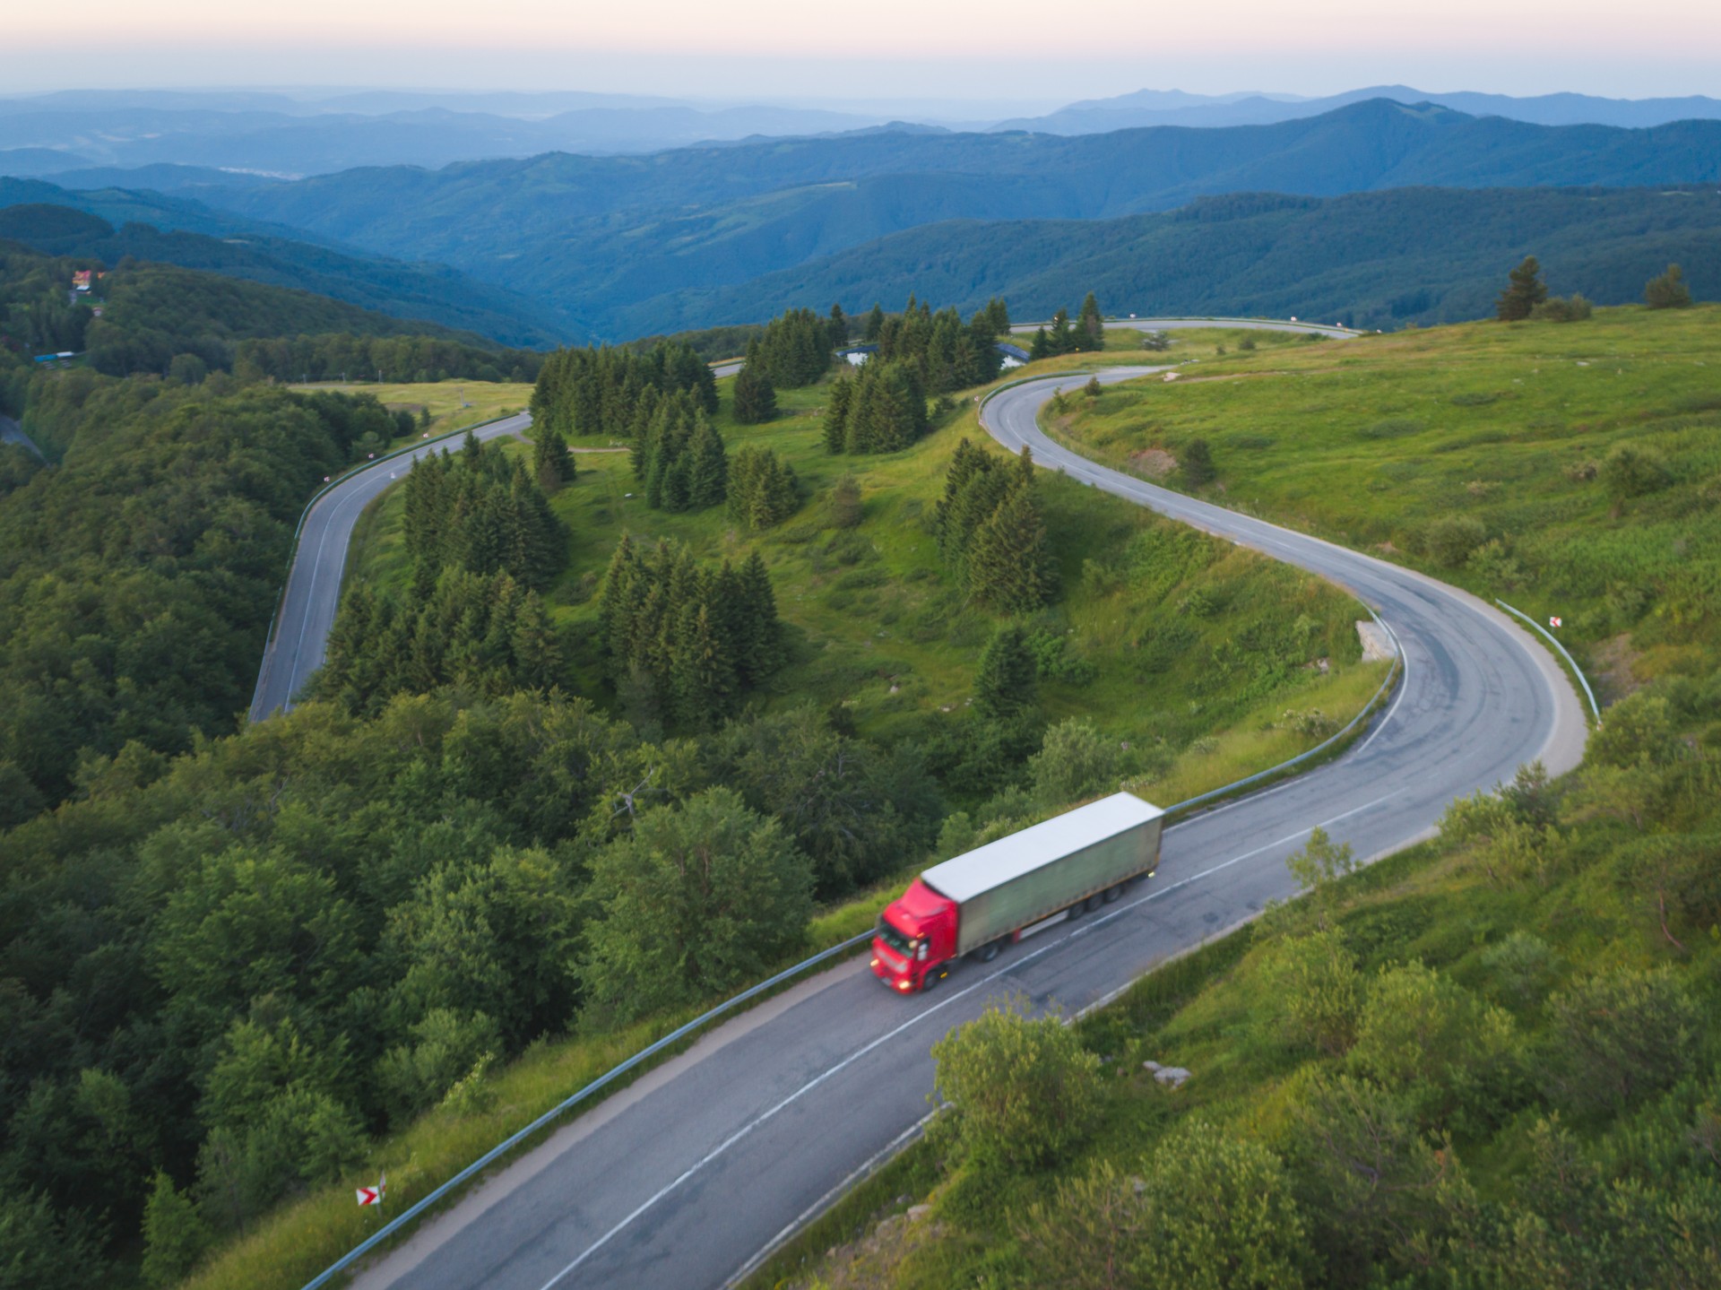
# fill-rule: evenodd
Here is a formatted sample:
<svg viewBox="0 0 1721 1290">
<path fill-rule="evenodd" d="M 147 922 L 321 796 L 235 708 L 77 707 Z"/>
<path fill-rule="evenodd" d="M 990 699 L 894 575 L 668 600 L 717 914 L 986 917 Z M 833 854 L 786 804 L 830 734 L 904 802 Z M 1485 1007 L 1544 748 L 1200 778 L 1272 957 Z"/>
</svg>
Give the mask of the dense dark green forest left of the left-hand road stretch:
<svg viewBox="0 0 1721 1290">
<path fill-rule="evenodd" d="M 375 400 L 93 372 L 38 375 L 24 425 L 62 460 L 0 498 L 14 820 L 72 792 L 81 758 L 231 727 L 305 499 L 399 431 Z"/>
</svg>

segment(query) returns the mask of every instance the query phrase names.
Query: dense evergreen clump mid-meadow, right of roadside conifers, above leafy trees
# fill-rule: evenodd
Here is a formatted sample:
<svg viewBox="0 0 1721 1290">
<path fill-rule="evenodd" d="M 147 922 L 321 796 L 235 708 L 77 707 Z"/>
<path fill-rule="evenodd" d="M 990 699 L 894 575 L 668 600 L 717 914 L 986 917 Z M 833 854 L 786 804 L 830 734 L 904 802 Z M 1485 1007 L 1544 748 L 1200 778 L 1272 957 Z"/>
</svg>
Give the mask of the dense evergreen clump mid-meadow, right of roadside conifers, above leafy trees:
<svg viewBox="0 0 1721 1290">
<path fill-rule="evenodd" d="M 687 548 L 623 537 L 599 599 L 609 677 L 632 715 L 706 730 L 783 665 L 764 560 L 700 567 Z"/>
</svg>

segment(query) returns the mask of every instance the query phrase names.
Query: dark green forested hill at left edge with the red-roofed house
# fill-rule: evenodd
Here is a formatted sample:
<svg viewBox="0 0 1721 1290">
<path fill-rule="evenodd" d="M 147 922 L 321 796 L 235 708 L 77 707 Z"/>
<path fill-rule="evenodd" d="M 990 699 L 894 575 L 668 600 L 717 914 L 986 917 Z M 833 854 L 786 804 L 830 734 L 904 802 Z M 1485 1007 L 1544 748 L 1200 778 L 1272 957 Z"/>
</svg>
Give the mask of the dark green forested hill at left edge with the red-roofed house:
<svg viewBox="0 0 1721 1290">
<path fill-rule="evenodd" d="M 308 291 L 131 258 L 103 269 L 96 257 L 36 255 L 5 241 L 12 233 L 76 241 L 79 229 L 93 226 L 107 227 L 62 207 L 0 210 L 0 348 L 14 363 L 74 351 L 108 375 L 155 372 L 181 382 L 236 363 L 251 379 L 325 379 L 348 370 L 382 370 L 391 381 L 527 381 L 537 374 L 537 353 L 501 350 L 472 332 L 373 313 Z M 71 291 L 77 270 L 100 274 L 88 293 Z M 21 408 L 21 391 L 0 398 L 0 412 Z"/>
</svg>

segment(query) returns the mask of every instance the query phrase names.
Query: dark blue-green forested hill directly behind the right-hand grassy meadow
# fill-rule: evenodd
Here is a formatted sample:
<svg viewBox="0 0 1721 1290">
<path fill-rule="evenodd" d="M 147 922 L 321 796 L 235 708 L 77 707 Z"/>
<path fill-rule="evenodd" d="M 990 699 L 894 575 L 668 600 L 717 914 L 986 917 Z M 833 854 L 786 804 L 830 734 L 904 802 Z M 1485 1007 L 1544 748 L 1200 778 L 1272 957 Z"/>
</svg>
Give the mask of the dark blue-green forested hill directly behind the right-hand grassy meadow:
<svg viewBox="0 0 1721 1290">
<path fill-rule="evenodd" d="M 948 220 L 733 288 L 620 310 L 621 327 L 673 331 L 749 319 L 793 300 L 890 300 L 912 279 L 964 310 L 1007 296 L 1043 319 L 1089 288 L 1120 312 L 1342 320 L 1363 329 L 1489 317 L 1499 265 L 1533 253 L 1556 291 L 1642 298 L 1669 262 L 1699 300 L 1721 295 L 1721 195 L 1692 189 L 1465 191 L 1339 198 L 1237 195 L 1117 220 Z"/>
</svg>

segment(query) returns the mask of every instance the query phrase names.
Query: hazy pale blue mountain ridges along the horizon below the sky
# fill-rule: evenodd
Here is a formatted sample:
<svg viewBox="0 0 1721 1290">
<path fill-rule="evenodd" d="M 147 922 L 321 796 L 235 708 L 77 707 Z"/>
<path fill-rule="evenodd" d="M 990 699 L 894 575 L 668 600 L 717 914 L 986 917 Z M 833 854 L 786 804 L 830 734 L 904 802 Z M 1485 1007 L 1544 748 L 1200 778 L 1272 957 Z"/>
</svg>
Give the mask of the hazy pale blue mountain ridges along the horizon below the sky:
<svg viewBox="0 0 1721 1290">
<path fill-rule="evenodd" d="M 854 131 L 957 129 L 1095 134 L 1146 126 L 1265 126 L 1389 98 L 1470 115 L 1544 126 L 1661 126 L 1721 117 L 1721 100 L 1511 96 L 1372 86 L 1341 95 L 1270 91 L 1193 95 L 1138 90 L 1067 103 L 1038 115 L 1000 103 L 707 103 L 585 91 L 76 91 L 0 96 L 0 174 L 52 177 L 69 171 L 203 165 L 284 176 L 363 165 L 447 165 L 546 152 L 652 153 L 749 138 L 811 138 Z M 1022 102 L 1022 100 L 1017 100 Z M 1002 110 L 1002 115 L 1000 115 Z M 76 181 L 59 181 L 74 184 Z"/>
</svg>

